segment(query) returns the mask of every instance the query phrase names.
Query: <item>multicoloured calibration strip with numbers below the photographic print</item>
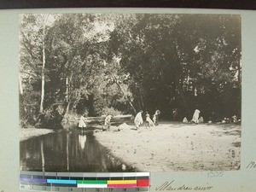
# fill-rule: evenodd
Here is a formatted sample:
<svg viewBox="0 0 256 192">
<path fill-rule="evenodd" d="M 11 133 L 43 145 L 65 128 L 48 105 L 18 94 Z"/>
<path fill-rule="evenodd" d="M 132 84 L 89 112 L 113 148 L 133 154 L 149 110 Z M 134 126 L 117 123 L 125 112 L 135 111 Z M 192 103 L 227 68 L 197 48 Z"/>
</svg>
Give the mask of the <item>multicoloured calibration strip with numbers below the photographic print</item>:
<svg viewBox="0 0 256 192">
<path fill-rule="evenodd" d="M 20 189 L 132 189 L 148 188 L 149 172 L 80 173 L 80 172 L 23 172 L 20 171 Z M 52 190 L 49 190 L 52 191 Z"/>
</svg>

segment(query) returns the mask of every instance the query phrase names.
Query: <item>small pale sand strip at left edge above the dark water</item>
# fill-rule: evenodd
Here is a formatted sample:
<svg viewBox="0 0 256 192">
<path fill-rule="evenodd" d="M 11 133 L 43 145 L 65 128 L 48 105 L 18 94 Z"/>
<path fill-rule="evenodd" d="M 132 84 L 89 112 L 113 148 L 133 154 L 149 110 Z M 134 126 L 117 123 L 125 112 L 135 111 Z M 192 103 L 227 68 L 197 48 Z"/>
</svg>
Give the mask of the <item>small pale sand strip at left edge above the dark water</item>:
<svg viewBox="0 0 256 192">
<path fill-rule="evenodd" d="M 38 137 L 53 132 L 48 129 L 26 128 L 20 129 L 20 142 L 32 137 Z"/>
</svg>

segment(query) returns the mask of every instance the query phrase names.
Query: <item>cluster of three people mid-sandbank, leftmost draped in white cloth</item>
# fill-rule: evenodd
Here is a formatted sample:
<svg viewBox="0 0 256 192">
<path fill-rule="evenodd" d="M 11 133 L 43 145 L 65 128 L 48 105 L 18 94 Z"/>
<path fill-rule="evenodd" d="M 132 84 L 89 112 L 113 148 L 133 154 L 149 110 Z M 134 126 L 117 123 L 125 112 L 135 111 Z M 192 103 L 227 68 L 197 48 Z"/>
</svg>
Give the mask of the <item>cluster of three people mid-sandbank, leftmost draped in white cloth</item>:
<svg viewBox="0 0 256 192">
<path fill-rule="evenodd" d="M 156 110 L 154 115 L 153 115 L 153 120 L 150 119 L 150 114 L 146 112 L 146 120 L 145 120 L 145 125 L 146 127 L 150 128 L 150 125 L 158 125 L 158 119 L 160 115 L 160 110 Z M 136 128 L 138 129 L 140 125 L 143 125 L 143 110 L 141 110 L 139 113 L 137 113 L 135 119 L 134 119 L 134 124 L 136 125 Z"/>
</svg>

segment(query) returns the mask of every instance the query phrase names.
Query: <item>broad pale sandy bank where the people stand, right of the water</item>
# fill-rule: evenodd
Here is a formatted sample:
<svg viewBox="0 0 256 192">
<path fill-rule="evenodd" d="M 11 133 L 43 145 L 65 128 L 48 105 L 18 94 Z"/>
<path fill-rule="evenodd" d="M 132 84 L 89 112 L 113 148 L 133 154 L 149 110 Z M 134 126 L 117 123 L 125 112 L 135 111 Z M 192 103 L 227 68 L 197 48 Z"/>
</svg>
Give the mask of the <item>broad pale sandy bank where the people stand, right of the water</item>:
<svg viewBox="0 0 256 192">
<path fill-rule="evenodd" d="M 96 131 L 97 140 L 140 172 L 240 169 L 241 125 L 191 125 L 162 122 L 135 130 Z"/>
</svg>

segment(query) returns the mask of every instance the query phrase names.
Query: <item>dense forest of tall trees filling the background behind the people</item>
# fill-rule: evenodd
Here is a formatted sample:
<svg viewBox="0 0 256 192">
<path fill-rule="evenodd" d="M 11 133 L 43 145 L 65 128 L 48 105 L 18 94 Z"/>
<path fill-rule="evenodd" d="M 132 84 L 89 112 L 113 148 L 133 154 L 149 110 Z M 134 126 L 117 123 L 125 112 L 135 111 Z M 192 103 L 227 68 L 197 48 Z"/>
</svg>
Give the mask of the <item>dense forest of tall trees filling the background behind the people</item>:
<svg viewBox="0 0 256 192">
<path fill-rule="evenodd" d="M 20 125 L 85 113 L 241 117 L 239 15 L 20 15 Z"/>
</svg>

